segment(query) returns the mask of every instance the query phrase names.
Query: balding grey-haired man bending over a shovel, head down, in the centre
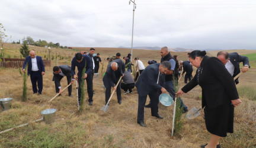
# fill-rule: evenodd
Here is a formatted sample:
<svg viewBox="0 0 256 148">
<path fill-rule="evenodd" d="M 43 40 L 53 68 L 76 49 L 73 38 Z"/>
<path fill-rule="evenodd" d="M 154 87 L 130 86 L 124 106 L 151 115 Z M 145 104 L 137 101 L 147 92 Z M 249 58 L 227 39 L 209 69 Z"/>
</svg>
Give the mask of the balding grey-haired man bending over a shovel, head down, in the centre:
<svg viewBox="0 0 256 148">
<path fill-rule="evenodd" d="M 105 72 L 105 76 L 103 77 L 103 83 L 106 88 L 105 90 L 105 102 L 108 102 L 111 94 L 111 87 L 114 91 L 117 91 L 117 102 L 121 104 L 121 87 L 120 83 L 117 85 L 120 77 L 124 76 L 125 65 L 121 59 L 113 60 L 108 63 L 107 70 Z M 115 88 L 115 86 L 117 87 Z"/>
</svg>

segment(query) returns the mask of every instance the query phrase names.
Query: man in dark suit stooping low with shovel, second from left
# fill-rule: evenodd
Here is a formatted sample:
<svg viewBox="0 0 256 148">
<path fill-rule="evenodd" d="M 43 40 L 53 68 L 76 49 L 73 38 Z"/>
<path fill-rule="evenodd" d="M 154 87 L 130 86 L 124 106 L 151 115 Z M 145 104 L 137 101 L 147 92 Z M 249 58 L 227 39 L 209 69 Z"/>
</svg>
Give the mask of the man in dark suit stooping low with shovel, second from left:
<svg viewBox="0 0 256 148">
<path fill-rule="evenodd" d="M 55 82 L 55 90 L 56 90 L 56 93 L 60 92 L 60 95 L 62 93 L 60 81 L 64 76 L 66 76 L 68 85 L 69 85 L 72 79 L 71 66 L 60 65 L 60 66 L 53 67 L 53 81 Z M 72 84 L 73 84 L 73 80 L 72 80 Z M 72 98 L 72 95 L 71 95 L 72 85 L 68 87 L 68 91 L 69 91 L 69 96 Z"/>
</svg>

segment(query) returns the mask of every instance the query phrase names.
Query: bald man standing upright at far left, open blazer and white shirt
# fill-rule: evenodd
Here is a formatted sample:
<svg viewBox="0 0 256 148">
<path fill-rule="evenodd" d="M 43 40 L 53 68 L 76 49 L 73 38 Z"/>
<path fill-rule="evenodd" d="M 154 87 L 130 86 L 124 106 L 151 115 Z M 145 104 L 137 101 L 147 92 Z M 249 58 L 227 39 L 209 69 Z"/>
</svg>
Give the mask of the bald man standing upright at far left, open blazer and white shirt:
<svg viewBox="0 0 256 148">
<path fill-rule="evenodd" d="M 43 75 L 45 72 L 43 60 L 40 56 L 36 56 L 35 50 L 30 50 L 29 54 L 30 56 L 26 57 L 25 62 L 23 64 L 23 72 L 25 73 L 25 66 L 28 63 L 27 75 L 30 75 L 33 92 L 34 94 L 37 94 L 38 92 L 39 95 L 41 95 L 41 92 L 43 91 Z"/>
</svg>

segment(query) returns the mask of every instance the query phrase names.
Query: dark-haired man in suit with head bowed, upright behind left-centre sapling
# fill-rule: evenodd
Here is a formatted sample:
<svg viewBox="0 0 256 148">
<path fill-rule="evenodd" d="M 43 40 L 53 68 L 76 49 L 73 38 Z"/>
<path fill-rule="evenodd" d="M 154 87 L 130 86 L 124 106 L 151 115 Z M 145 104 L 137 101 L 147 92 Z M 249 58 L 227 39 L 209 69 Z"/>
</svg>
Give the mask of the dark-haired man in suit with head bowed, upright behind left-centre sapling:
<svg viewBox="0 0 256 148">
<path fill-rule="evenodd" d="M 75 67 L 78 67 L 78 75 L 75 74 Z M 82 78 L 82 71 L 86 67 L 84 78 Z M 88 92 L 88 101 L 89 105 L 92 105 L 92 78 L 91 78 L 91 72 L 92 72 L 92 64 L 91 64 L 91 58 L 85 54 L 76 53 L 75 57 L 73 57 L 71 62 L 71 73 L 73 75 L 73 78 L 78 80 L 78 101 L 80 102 L 81 98 L 81 81 L 82 79 L 86 79 L 87 81 L 87 92 Z"/>
</svg>

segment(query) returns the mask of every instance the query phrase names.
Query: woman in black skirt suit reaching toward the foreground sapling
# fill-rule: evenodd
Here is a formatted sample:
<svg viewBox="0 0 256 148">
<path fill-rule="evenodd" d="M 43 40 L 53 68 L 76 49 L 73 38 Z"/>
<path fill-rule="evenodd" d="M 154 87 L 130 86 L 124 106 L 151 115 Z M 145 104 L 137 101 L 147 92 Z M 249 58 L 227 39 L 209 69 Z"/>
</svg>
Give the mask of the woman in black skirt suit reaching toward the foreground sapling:
<svg viewBox="0 0 256 148">
<path fill-rule="evenodd" d="M 197 67 L 194 78 L 177 95 L 187 93 L 195 86 L 202 88 L 202 108 L 204 108 L 206 128 L 210 141 L 201 147 L 220 147 L 220 137 L 233 133 L 233 107 L 241 104 L 235 82 L 226 67 L 216 57 L 205 56 L 205 51 L 194 50 L 189 56 Z"/>
</svg>

